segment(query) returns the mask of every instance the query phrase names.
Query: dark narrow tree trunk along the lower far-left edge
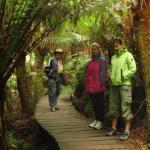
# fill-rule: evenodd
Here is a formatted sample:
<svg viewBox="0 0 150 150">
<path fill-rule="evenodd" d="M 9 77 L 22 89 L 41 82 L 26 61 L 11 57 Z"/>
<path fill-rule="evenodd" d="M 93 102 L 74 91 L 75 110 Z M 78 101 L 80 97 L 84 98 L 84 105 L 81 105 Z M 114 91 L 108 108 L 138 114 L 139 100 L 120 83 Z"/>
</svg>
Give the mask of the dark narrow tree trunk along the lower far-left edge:
<svg viewBox="0 0 150 150">
<path fill-rule="evenodd" d="M 1 143 L 2 150 L 8 150 L 7 134 L 6 134 L 6 121 L 5 121 L 5 86 L 0 80 L 0 132 L 1 132 Z"/>
</svg>

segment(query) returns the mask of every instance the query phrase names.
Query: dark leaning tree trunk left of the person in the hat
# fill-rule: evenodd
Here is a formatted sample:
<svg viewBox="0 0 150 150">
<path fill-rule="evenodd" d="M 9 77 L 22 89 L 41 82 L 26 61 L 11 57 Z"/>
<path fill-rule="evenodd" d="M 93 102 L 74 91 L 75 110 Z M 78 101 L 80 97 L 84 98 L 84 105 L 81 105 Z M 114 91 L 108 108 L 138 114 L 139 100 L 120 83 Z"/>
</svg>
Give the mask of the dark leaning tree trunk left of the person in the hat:
<svg viewBox="0 0 150 150">
<path fill-rule="evenodd" d="M 32 114 L 33 110 L 31 104 L 33 104 L 33 97 L 26 76 L 25 55 L 22 55 L 16 66 L 16 75 L 22 112 L 25 114 Z"/>
</svg>

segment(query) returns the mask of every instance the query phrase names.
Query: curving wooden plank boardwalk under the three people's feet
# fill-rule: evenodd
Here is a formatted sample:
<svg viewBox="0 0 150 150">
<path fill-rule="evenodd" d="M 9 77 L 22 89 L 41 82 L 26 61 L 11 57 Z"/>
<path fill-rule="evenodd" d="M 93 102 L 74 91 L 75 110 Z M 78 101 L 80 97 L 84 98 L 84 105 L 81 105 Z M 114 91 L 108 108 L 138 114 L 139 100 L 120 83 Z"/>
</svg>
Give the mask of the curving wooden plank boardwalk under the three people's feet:
<svg viewBox="0 0 150 150">
<path fill-rule="evenodd" d="M 60 110 L 51 112 L 47 96 L 36 107 L 39 124 L 58 142 L 60 150 L 137 150 L 117 136 L 107 137 L 103 130 L 88 127 L 91 120 L 80 115 L 69 100 L 59 99 Z"/>
</svg>

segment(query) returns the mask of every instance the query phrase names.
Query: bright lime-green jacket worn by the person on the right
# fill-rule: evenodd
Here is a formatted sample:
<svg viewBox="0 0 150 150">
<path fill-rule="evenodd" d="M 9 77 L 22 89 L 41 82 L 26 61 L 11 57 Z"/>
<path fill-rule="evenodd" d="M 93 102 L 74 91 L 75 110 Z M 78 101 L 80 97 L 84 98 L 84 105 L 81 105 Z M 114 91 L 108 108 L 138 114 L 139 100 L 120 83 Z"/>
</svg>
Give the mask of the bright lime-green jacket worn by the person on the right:
<svg viewBox="0 0 150 150">
<path fill-rule="evenodd" d="M 131 78 L 136 72 L 133 55 L 127 49 L 121 49 L 112 56 L 110 80 L 112 85 L 131 85 Z"/>
</svg>

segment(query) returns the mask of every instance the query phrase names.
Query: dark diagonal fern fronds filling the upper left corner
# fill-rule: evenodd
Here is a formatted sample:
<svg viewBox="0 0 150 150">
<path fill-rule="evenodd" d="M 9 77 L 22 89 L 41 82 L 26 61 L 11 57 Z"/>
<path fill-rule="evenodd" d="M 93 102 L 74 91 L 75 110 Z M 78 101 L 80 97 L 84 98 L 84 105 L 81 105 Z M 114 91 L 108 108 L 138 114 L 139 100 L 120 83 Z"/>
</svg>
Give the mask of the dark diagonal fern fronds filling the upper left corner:
<svg viewBox="0 0 150 150">
<path fill-rule="evenodd" d="M 74 15 L 78 5 L 78 0 L 6 0 L 3 3 L 3 7 L 0 7 L 0 26 L 3 27 L 0 28 L 0 76 L 4 78 L 4 82 L 10 77 L 20 56 L 26 55 L 70 15 Z M 39 32 L 41 24 L 45 28 Z M 40 34 L 33 39 L 37 32 Z"/>
</svg>

